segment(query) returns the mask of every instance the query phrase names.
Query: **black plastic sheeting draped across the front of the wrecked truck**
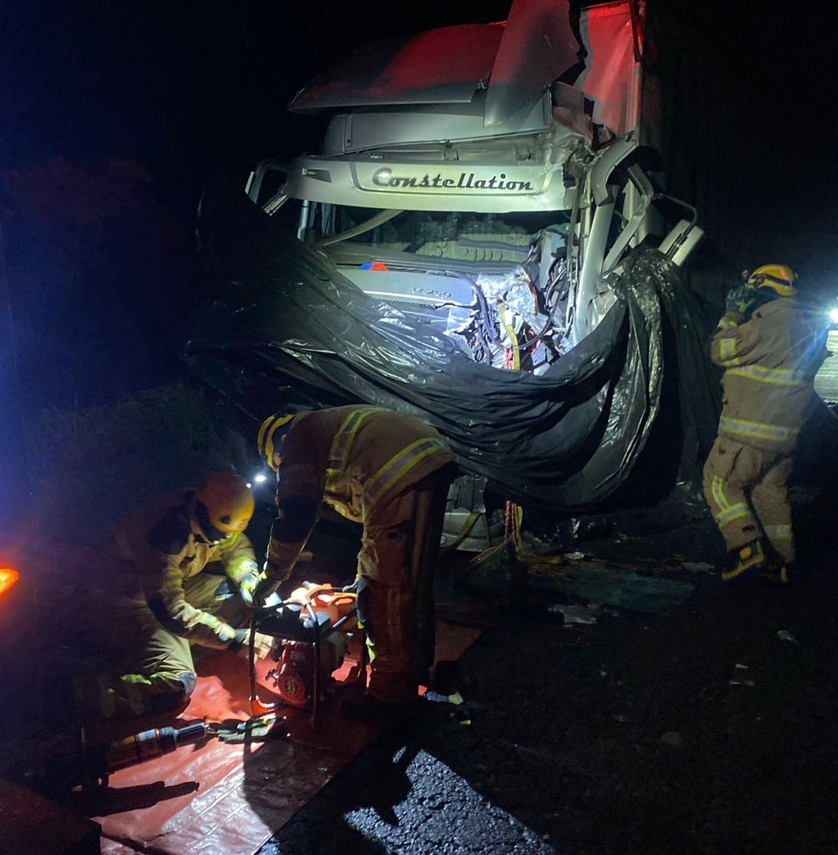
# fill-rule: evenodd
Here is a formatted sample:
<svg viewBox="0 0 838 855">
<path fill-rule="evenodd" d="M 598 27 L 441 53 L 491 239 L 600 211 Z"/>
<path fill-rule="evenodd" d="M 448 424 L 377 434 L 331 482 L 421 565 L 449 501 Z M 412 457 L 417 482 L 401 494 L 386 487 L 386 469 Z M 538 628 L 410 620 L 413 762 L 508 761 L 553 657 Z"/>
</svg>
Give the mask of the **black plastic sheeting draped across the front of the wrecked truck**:
<svg viewBox="0 0 838 855">
<path fill-rule="evenodd" d="M 535 376 L 474 363 L 369 298 L 240 189 L 204 197 L 199 236 L 217 287 L 184 357 L 252 416 L 254 433 L 289 383 L 324 404 L 410 412 L 505 498 L 552 510 L 611 498 L 646 445 L 662 389 L 661 288 L 668 310 L 686 311 L 676 268 L 657 251 L 630 259 L 599 326 Z"/>
</svg>

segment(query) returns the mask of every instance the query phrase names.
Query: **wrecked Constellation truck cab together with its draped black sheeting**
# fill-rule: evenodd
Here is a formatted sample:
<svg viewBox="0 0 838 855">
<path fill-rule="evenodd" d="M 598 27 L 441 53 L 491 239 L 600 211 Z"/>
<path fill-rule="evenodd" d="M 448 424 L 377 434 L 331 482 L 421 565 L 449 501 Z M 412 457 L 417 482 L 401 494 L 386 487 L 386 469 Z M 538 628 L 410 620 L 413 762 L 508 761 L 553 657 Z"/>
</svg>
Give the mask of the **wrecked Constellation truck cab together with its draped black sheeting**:
<svg viewBox="0 0 838 855">
<path fill-rule="evenodd" d="M 291 385 L 421 417 L 495 495 L 613 498 L 661 410 L 664 327 L 688 395 L 706 363 L 677 274 L 695 212 L 644 168 L 635 6 L 583 9 L 575 32 L 568 3 L 516 0 L 304 87 L 290 109 L 328 117 L 320 152 L 202 200 L 221 282 L 187 362 L 255 424 Z"/>
</svg>

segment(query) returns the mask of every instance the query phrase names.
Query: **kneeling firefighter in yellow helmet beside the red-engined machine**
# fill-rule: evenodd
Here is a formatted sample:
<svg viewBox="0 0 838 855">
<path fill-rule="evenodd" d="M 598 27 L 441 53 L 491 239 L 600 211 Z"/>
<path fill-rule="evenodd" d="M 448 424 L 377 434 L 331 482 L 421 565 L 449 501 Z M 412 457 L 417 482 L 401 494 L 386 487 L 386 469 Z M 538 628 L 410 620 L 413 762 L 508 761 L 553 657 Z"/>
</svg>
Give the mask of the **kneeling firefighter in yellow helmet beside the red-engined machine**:
<svg viewBox="0 0 838 855">
<path fill-rule="evenodd" d="M 190 644 L 247 653 L 249 614 L 261 580 L 245 534 L 254 509 L 239 475 L 210 476 L 140 509 L 104 548 L 91 621 L 108 652 L 107 675 L 77 698 L 83 716 L 139 716 L 182 707 L 197 675 Z M 257 654 L 270 646 L 256 640 Z M 80 694 L 77 686 L 77 696 Z"/>
</svg>

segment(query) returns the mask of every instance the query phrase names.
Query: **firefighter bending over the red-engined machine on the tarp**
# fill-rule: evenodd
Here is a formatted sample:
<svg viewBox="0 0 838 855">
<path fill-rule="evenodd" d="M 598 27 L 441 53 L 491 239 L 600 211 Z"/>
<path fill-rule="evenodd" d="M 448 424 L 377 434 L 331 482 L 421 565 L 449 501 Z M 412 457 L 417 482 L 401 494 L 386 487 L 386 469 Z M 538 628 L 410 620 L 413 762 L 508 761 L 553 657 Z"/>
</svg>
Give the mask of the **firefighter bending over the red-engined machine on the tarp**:
<svg viewBox="0 0 838 855">
<path fill-rule="evenodd" d="M 454 465 L 413 416 L 351 405 L 270 416 L 259 454 L 277 473 L 264 595 L 291 575 L 325 502 L 363 523 L 358 614 L 369 641 L 368 696 L 350 715 L 416 699 L 434 663 L 434 570 Z"/>
</svg>

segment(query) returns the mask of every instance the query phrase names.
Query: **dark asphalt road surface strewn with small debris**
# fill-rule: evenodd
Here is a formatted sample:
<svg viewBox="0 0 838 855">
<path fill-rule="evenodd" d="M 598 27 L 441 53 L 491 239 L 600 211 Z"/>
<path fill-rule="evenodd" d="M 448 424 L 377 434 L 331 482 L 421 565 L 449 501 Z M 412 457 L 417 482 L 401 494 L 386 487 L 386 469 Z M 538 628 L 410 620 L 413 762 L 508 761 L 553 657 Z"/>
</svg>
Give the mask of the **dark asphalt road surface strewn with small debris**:
<svg viewBox="0 0 838 855">
<path fill-rule="evenodd" d="M 259 855 L 834 853 L 838 444 L 826 430 L 792 492 L 803 581 L 725 586 L 700 503 L 612 520 L 576 547 L 688 583 L 682 604 L 591 607 L 530 578 L 463 656 L 465 704 L 434 696 Z M 570 620 L 595 622 L 564 622 L 568 604 L 583 606 Z"/>
</svg>

